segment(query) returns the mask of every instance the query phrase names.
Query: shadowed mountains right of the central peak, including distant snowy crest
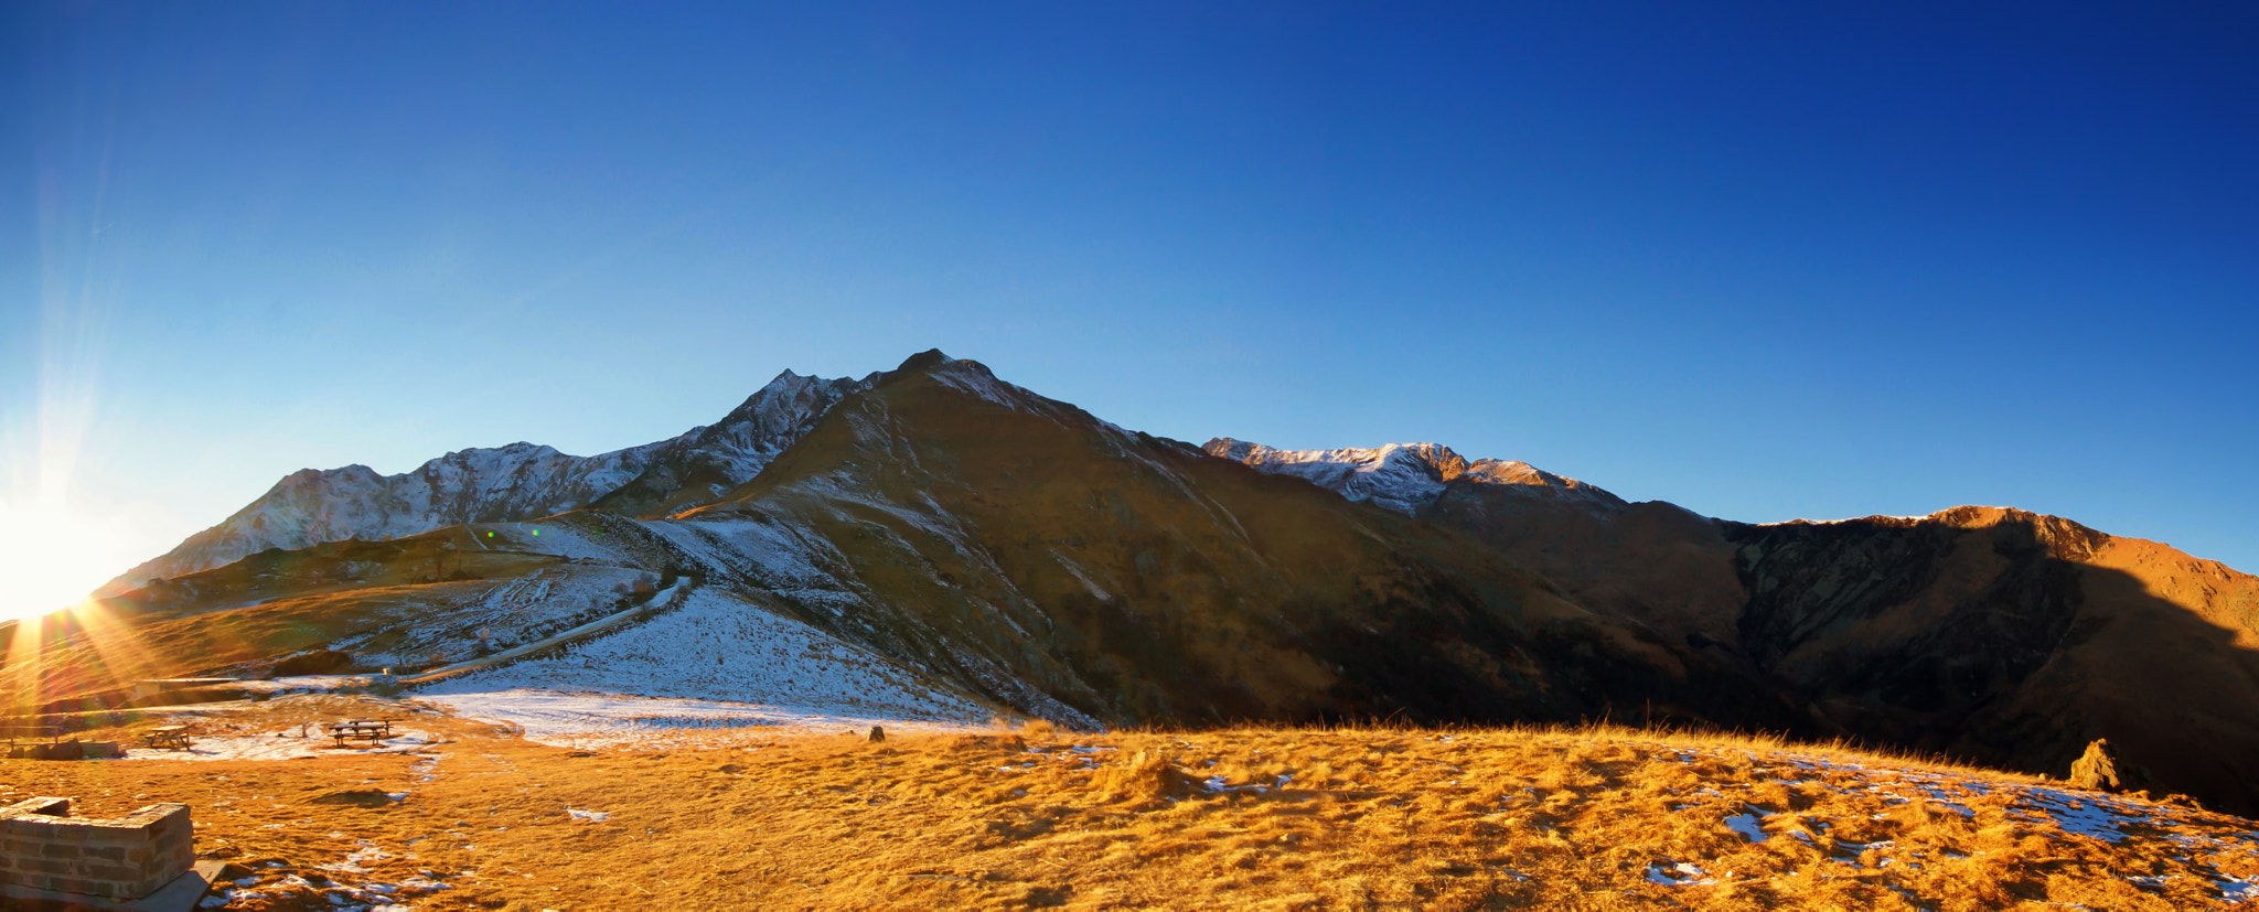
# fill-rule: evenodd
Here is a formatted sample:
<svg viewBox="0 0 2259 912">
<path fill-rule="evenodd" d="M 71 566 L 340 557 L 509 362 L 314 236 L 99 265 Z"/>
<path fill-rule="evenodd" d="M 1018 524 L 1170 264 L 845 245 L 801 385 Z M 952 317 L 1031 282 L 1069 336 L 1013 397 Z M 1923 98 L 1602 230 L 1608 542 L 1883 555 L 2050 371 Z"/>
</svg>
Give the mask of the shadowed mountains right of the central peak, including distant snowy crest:
<svg viewBox="0 0 2259 912">
<path fill-rule="evenodd" d="M 2175 790 L 2259 810 L 2259 578 L 2225 564 L 2011 508 L 1737 524 L 1527 467 L 1453 474 L 1439 445 L 1206 449 L 1410 506 L 1834 736 L 2053 774 L 2108 736 Z M 1412 481 L 1376 497 L 1392 461 Z"/>
</svg>

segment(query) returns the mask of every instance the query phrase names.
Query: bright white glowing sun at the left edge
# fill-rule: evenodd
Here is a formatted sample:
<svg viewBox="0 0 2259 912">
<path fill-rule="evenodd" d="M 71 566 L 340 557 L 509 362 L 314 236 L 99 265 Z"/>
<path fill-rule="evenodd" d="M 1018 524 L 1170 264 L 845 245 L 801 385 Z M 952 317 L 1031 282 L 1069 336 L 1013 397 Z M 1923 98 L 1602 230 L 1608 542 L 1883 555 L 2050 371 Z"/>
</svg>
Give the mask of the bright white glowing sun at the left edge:
<svg viewBox="0 0 2259 912">
<path fill-rule="evenodd" d="M 0 499 L 0 621 L 72 607 L 133 567 L 120 526 L 54 494 Z"/>
</svg>

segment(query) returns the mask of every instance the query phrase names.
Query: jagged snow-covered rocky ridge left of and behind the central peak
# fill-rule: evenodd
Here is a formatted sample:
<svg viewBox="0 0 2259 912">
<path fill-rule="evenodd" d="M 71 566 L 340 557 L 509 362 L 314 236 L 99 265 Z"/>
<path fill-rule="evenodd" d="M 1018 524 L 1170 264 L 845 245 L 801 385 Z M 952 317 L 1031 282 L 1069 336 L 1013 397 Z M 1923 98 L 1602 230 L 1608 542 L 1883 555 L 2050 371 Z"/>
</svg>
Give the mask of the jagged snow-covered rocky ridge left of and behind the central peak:
<svg viewBox="0 0 2259 912">
<path fill-rule="evenodd" d="M 111 580 L 117 594 L 154 578 L 230 564 L 267 549 L 389 540 L 472 521 L 517 521 L 592 506 L 612 497 L 623 512 L 642 506 L 712 503 L 745 483 L 800 440 L 827 409 L 872 379 L 777 375 L 721 422 L 601 456 L 567 456 L 513 442 L 459 449 L 416 472 L 382 476 L 366 465 L 303 470 L 163 558 Z"/>
</svg>

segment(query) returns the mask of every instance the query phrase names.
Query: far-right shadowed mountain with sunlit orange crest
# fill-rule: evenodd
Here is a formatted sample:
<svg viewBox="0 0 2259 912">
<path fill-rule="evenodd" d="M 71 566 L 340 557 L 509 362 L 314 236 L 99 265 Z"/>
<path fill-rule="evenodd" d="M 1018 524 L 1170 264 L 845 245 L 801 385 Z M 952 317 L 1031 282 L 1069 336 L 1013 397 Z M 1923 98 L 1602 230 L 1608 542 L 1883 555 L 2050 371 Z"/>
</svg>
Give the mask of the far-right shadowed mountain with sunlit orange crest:
<svg viewBox="0 0 2259 912">
<path fill-rule="evenodd" d="M 2110 738 L 2259 810 L 2259 578 L 2004 508 L 1726 540 L 1739 648 L 1843 731 L 2056 774 Z"/>
</svg>

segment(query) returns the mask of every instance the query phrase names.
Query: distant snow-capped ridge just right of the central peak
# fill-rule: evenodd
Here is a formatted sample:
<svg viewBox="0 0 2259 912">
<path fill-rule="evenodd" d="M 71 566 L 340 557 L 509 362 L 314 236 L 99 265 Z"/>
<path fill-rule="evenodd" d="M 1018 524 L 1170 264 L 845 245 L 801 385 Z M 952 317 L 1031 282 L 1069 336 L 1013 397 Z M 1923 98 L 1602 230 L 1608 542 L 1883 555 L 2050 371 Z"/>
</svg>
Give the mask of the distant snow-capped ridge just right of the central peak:
<svg viewBox="0 0 2259 912">
<path fill-rule="evenodd" d="M 1529 463 L 1484 458 L 1468 463 L 1439 442 L 1392 442 L 1378 449 L 1272 449 L 1261 442 L 1215 438 L 1202 447 L 1270 474 L 1290 474 L 1351 501 L 1367 501 L 1403 515 L 1444 497 L 1457 483 L 1502 485 L 1529 497 L 1547 497 L 1597 510 L 1624 501 L 1577 479 L 1563 479 Z"/>
</svg>

